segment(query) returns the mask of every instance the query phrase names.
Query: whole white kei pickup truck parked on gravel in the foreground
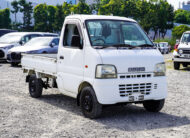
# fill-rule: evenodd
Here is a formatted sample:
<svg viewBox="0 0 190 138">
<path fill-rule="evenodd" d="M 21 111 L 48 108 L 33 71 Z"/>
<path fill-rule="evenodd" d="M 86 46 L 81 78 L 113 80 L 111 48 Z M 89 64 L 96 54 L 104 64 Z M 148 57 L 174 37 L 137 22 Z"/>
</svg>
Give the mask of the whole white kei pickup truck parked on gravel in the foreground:
<svg viewBox="0 0 190 138">
<path fill-rule="evenodd" d="M 21 63 L 31 97 L 58 88 L 91 119 L 113 104 L 141 103 L 159 112 L 167 97 L 164 58 L 133 19 L 70 15 L 57 55 L 23 54 Z"/>
</svg>

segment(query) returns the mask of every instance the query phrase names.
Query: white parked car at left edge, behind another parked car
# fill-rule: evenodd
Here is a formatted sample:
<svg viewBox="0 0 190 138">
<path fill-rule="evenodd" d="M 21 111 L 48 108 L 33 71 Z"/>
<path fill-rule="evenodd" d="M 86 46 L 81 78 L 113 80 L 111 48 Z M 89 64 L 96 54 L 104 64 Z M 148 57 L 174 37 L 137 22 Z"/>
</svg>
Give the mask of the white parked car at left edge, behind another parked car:
<svg viewBox="0 0 190 138">
<path fill-rule="evenodd" d="M 40 36 L 58 36 L 53 33 L 40 33 L 40 32 L 13 32 L 0 37 L 0 59 L 7 59 L 8 50 L 24 45 L 30 39 Z"/>
</svg>

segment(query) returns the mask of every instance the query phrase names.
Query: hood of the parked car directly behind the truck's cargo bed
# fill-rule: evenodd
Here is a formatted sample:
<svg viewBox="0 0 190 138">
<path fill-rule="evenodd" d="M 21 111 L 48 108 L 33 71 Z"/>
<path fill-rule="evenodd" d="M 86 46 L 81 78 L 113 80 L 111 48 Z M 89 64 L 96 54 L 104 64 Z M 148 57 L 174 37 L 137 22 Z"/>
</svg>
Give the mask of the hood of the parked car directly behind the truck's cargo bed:
<svg viewBox="0 0 190 138">
<path fill-rule="evenodd" d="M 35 50 L 40 50 L 47 48 L 46 46 L 19 46 L 19 47 L 14 47 L 9 50 L 9 52 L 20 52 L 20 53 L 25 53 L 29 51 L 35 51 Z"/>
</svg>

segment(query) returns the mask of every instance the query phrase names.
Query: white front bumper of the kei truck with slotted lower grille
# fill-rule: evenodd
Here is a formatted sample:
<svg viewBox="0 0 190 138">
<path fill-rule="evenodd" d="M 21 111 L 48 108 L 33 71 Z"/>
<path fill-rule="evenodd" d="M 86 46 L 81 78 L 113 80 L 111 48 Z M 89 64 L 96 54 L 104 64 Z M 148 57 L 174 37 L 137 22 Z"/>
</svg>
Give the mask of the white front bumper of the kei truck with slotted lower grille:
<svg viewBox="0 0 190 138">
<path fill-rule="evenodd" d="M 99 103 L 116 104 L 161 100 L 167 97 L 166 77 L 137 77 L 118 79 L 96 79 L 93 87 Z"/>
</svg>

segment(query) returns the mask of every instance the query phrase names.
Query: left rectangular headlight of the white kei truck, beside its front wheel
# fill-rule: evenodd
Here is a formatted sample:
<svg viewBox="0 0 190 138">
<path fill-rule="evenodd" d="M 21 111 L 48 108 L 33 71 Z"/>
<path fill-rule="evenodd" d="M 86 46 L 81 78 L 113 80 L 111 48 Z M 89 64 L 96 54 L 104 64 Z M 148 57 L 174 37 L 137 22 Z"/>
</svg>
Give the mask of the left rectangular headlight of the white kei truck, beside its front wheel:
<svg viewBox="0 0 190 138">
<path fill-rule="evenodd" d="M 97 65 L 96 78 L 98 79 L 117 78 L 116 67 L 113 65 Z"/>
</svg>

